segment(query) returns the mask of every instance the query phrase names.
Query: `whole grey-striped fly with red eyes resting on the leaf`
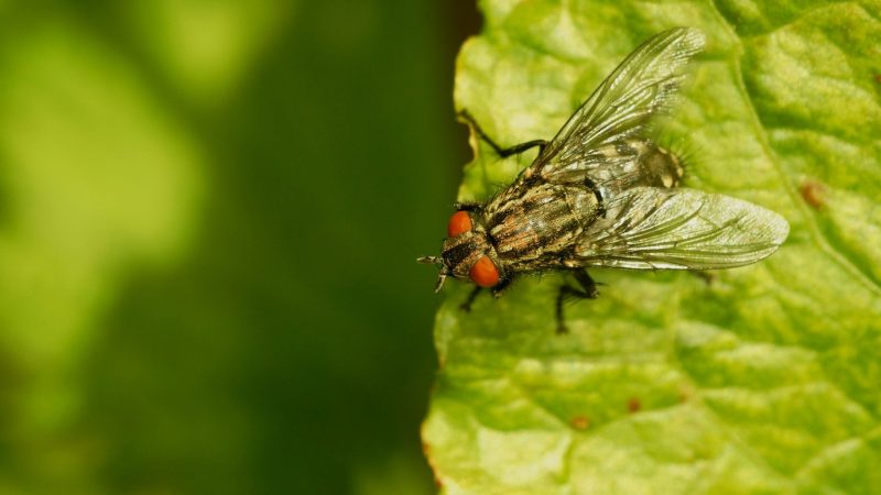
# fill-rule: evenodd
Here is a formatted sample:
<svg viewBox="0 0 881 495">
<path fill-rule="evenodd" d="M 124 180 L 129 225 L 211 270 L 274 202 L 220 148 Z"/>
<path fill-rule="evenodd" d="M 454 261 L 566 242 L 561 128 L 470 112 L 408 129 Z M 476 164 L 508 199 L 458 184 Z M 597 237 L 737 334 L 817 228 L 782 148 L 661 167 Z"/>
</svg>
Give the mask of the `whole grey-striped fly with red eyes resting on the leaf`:
<svg viewBox="0 0 881 495">
<path fill-rule="evenodd" d="M 681 160 L 645 136 L 651 119 L 673 102 L 704 34 L 677 28 L 631 53 L 548 141 L 503 148 L 467 112 L 475 132 L 502 156 L 539 147 L 514 182 L 482 204 L 459 204 L 447 226 L 435 292 L 448 276 L 501 296 L 521 274 L 565 271 L 556 298 L 592 299 L 587 267 L 717 270 L 755 263 L 786 239 L 780 215 L 728 196 L 679 188 Z"/>
</svg>

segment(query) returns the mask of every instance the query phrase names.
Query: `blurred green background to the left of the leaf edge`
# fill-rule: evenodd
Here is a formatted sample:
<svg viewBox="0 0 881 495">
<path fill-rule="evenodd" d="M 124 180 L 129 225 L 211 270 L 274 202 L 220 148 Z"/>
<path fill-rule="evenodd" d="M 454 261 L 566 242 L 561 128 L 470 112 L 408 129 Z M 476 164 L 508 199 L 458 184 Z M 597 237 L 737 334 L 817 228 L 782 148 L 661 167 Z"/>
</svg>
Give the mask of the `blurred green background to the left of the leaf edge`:
<svg viewBox="0 0 881 495">
<path fill-rule="evenodd" d="M 0 0 L 0 494 L 420 494 L 467 1 Z"/>
</svg>

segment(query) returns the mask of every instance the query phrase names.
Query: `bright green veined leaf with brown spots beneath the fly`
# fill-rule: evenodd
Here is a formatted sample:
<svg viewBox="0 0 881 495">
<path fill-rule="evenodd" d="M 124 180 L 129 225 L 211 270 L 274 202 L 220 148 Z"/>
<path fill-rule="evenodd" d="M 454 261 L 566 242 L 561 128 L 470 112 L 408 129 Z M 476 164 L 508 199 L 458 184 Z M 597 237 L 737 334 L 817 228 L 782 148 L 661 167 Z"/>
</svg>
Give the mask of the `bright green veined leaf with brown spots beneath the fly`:
<svg viewBox="0 0 881 495">
<path fill-rule="evenodd" d="M 881 3 L 485 0 L 456 107 L 502 145 L 550 139 L 630 51 L 707 34 L 665 140 L 686 186 L 783 215 L 784 246 L 709 283 L 595 270 L 503 298 L 450 284 L 424 425 L 448 494 L 877 493 L 881 487 Z M 666 134 L 670 134 L 667 138 Z M 682 142 L 685 144 L 682 144 Z M 472 140 L 460 199 L 534 157 Z"/>
</svg>

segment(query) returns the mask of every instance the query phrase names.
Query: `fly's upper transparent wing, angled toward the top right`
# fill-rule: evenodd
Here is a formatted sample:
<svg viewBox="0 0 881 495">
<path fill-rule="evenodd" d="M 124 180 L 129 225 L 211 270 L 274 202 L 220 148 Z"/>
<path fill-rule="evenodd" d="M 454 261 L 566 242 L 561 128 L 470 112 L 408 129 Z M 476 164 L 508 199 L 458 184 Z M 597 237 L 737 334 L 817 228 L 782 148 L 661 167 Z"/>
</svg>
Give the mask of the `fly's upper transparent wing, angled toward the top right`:
<svg viewBox="0 0 881 495">
<path fill-rule="evenodd" d="M 532 165 L 550 182 L 574 183 L 609 166 L 603 145 L 644 131 L 651 118 L 670 106 L 684 69 L 704 48 L 704 34 L 676 28 L 656 34 L 618 66 L 563 125 Z M 626 156 L 618 157 L 623 162 Z"/>
</svg>

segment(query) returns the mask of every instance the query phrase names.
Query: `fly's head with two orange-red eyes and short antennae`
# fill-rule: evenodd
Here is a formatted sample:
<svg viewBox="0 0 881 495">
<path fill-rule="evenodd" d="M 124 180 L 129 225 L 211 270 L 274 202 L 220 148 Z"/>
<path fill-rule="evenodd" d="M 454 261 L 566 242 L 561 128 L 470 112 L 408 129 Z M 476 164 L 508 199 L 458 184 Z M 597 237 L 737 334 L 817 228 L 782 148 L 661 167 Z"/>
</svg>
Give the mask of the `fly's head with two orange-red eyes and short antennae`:
<svg viewBox="0 0 881 495">
<path fill-rule="evenodd" d="M 424 256 L 416 261 L 440 265 L 435 292 L 440 290 L 448 276 L 485 288 L 497 287 L 505 280 L 504 268 L 477 211 L 459 210 L 453 213 L 440 256 Z"/>
</svg>

